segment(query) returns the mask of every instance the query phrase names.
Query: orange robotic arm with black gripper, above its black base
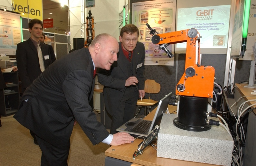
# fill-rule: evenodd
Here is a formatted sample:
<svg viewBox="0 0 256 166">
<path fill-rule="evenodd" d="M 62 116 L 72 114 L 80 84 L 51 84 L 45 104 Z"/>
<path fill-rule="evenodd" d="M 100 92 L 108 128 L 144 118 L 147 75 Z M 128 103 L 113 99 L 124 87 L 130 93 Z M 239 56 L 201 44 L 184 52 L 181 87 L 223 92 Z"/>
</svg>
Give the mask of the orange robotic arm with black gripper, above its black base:
<svg viewBox="0 0 256 166">
<path fill-rule="evenodd" d="M 200 34 L 196 29 L 157 34 L 148 24 L 152 42 L 159 44 L 170 58 L 173 54 L 168 50 L 169 44 L 187 42 L 185 73 L 176 86 L 176 94 L 193 97 L 212 98 L 215 70 L 212 66 L 200 66 Z"/>
</svg>

